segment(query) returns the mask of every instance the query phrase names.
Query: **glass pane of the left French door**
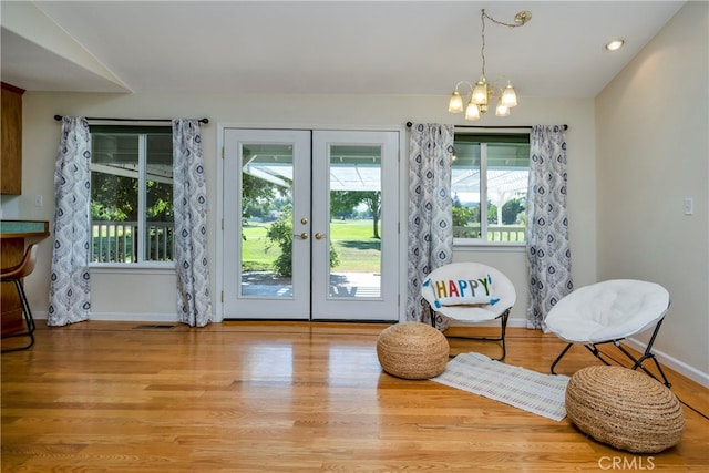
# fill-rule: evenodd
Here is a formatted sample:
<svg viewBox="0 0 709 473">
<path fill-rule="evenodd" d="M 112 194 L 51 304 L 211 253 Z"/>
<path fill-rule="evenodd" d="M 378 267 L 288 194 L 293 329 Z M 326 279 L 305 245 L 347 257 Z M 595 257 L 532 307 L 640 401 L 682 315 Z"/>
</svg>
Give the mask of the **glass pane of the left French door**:
<svg viewBox="0 0 709 473">
<path fill-rule="evenodd" d="M 239 294 L 292 298 L 292 145 L 242 150 Z"/>
</svg>

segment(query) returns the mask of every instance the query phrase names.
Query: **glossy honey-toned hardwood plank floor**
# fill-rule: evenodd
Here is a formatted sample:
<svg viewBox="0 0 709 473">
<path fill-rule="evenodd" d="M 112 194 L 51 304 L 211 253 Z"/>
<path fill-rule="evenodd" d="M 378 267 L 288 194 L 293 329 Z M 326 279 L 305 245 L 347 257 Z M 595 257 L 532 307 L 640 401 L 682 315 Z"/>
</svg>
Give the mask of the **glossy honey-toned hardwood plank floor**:
<svg viewBox="0 0 709 473">
<path fill-rule="evenodd" d="M 708 390 L 668 370 L 679 445 L 616 451 L 555 422 L 381 371 L 383 325 L 138 322 L 45 328 L 2 360 L 3 472 L 707 471 Z M 3 340 L 3 346 L 7 340 Z M 451 340 L 453 352 L 497 356 Z M 548 372 L 553 336 L 510 329 L 505 362 Z M 574 348 L 558 371 L 597 361 Z M 699 411 L 699 412 L 697 412 Z"/>
</svg>

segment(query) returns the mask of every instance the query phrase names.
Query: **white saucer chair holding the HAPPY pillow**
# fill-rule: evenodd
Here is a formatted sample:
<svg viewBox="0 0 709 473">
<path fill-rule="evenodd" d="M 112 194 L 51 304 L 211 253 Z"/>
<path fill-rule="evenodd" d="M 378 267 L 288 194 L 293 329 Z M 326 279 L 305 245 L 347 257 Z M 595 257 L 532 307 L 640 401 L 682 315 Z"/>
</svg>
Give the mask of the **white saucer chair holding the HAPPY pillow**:
<svg viewBox="0 0 709 473">
<path fill-rule="evenodd" d="M 499 342 L 502 361 L 506 354 L 505 331 L 510 310 L 516 301 L 512 281 L 500 270 L 480 263 L 452 263 L 433 270 L 422 284 L 421 296 L 436 316 L 463 323 L 500 321 L 500 337 L 465 337 L 470 340 Z"/>
</svg>

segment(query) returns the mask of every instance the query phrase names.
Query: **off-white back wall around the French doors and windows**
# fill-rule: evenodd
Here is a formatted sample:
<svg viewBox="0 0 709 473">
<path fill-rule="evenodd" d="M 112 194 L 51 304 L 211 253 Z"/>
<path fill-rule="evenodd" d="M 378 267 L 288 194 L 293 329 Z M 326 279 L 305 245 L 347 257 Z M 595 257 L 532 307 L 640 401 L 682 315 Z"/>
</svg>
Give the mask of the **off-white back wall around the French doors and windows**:
<svg viewBox="0 0 709 473">
<path fill-rule="evenodd" d="M 53 171 L 61 124 L 54 114 L 112 117 L 203 117 L 203 146 L 210 199 L 209 254 L 216 285 L 220 259 L 216 255 L 217 128 L 218 124 L 244 126 L 304 127 L 398 127 L 407 121 L 464 124 L 460 115 L 446 112 L 446 96 L 333 96 L 333 95 L 213 95 L 206 93 L 96 94 L 27 92 L 23 102 L 23 195 L 3 197 L 4 218 L 53 219 Z M 569 125 L 569 220 L 574 269 L 577 285 L 595 280 L 595 148 L 592 100 L 546 101 L 521 99 L 507 119 L 487 116 L 481 124 Z M 405 187 L 403 187 L 405 188 Z M 34 206 L 42 195 L 43 207 Z M 17 214 L 17 215 L 13 215 Z M 404 216 L 405 219 L 405 216 Z M 30 304 L 38 317 L 45 317 L 49 291 L 51 238 L 42 240 L 37 273 L 28 278 Z M 526 258 L 524 251 L 461 251 L 458 260 L 499 264 L 520 290 L 512 325 L 524 326 L 526 305 Z M 213 287 L 216 295 L 222 288 Z M 402 297 L 402 300 L 405 298 Z M 218 301 L 214 305 L 217 307 Z M 94 318 L 174 320 L 174 275 L 161 271 L 112 274 L 92 271 Z"/>
</svg>

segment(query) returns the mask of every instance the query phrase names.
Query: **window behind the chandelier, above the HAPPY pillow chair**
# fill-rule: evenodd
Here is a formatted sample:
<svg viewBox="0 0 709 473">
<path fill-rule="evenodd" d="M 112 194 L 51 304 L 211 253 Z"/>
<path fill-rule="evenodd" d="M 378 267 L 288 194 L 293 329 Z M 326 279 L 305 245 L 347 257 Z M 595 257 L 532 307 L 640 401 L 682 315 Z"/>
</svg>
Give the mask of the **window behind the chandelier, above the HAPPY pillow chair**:
<svg viewBox="0 0 709 473">
<path fill-rule="evenodd" d="M 456 134 L 454 146 L 454 243 L 524 243 L 530 135 Z"/>
</svg>

